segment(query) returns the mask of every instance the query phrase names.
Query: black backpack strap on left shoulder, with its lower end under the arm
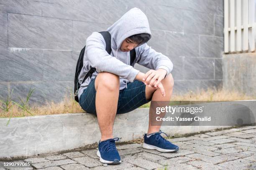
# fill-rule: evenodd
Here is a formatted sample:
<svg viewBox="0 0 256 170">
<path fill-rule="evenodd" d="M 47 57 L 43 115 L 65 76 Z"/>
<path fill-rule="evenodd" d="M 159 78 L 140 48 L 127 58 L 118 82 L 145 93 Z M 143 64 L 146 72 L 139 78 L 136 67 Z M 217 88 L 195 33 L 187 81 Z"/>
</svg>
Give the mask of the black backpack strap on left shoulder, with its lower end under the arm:
<svg viewBox="0 0 256 170">
<path fill-rule="evenodd" d="M 105 40 L 105 43 L 106 43 L 106 51 L 108 52 L 108 54 L 110 55 L 111 53 L 111 35 L 108 31 L 102 31 L 102 32 L 99 32 L 104 40 Z M 92 77 L 92 74 L 96 71 L 96 68 L 92 67 L 89 72 L 87 72 L 87 74 L 85 75 L 81 85 L 84 83 L 84 81 L 88 78 L 88 77 Z"/>
</svg>

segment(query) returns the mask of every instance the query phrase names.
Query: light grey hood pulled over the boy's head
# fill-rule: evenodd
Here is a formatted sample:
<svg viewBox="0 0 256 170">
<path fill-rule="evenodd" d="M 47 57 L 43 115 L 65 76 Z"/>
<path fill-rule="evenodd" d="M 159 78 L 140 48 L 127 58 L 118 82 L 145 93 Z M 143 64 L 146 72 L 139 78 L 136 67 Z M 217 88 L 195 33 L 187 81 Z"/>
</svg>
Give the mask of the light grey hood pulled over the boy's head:
<svg viewBox="0 0 256 170">
<path fill-rule="evenodd" d="M 123 40 L 132 35 L 147 33 L 151 37 L 148 18 L 136 7 L 126 12 L 107 31 L 111 34 L 111 47 L 117 50 L 120 48 Z"/>
</svg>

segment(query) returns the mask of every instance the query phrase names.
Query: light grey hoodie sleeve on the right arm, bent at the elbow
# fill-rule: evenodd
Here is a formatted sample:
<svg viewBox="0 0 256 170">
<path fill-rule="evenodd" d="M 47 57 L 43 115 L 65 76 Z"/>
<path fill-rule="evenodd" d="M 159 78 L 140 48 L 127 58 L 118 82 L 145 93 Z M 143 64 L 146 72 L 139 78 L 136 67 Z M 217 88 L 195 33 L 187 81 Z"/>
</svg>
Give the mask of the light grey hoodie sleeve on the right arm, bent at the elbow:
<svg viewBox="0 0 256 170">
<path fill-rule="evenodd" d="M 143 65 L 153 70 L 162 68 L 167 71 L 166 75 L 172 71 L 172 61 L 161 52 L 156 52 L 146 43 L 137 48 L 136 54 L 138 55 L 137 63 L 139 65 Z"/>
</svg>

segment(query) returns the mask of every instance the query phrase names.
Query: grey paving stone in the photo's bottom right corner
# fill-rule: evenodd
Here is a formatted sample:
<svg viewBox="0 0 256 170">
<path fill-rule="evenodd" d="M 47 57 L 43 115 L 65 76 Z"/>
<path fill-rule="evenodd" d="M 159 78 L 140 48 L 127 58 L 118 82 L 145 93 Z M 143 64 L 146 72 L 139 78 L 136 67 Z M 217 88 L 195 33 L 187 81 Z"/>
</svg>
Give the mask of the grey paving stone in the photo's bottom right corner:
<svg viewBox="0 0 256 170">
<path fill-rule="evenodd" d="M 251 160 L 238 159 L 238 160 L 231 160 L 225 163 L 220 163 L 218 165 L 228 170 L 242 170 L 242 169 L 248 169 L 249 167 L 251 167 L 252 163 L 255 163 L 255 162 Z"/>
</svg>

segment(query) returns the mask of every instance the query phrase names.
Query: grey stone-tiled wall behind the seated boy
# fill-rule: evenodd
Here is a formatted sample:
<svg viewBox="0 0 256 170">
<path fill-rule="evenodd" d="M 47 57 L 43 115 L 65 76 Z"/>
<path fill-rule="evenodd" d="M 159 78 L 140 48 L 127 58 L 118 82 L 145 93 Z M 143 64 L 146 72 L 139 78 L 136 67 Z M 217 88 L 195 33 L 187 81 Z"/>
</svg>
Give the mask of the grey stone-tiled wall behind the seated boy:
<svg viewBox="0 0 256 170">
<path fill-rule="evenodd" d="M 0 0 L 0 98 L 32 86 L 33 103 L 63 100 L 86 38 L 132 7 L 148 17 L 148 44 L 174 63 L 174 93 L 222 84 L 223 0 Z"/>
</svg>

